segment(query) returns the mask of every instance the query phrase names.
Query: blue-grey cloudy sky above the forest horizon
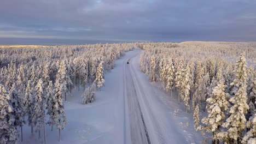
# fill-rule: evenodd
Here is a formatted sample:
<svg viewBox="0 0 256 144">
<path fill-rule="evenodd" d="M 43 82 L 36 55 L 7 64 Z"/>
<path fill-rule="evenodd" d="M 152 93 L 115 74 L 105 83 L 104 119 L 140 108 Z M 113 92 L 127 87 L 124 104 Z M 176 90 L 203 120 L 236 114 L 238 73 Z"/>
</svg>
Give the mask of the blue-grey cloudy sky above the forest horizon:
<svg viewBox="0 0 256 144">
<path fill-rule="evenodd" d="M 256 41 L 256 0 L 1 0 L 1 38 Z"/>
</svg>

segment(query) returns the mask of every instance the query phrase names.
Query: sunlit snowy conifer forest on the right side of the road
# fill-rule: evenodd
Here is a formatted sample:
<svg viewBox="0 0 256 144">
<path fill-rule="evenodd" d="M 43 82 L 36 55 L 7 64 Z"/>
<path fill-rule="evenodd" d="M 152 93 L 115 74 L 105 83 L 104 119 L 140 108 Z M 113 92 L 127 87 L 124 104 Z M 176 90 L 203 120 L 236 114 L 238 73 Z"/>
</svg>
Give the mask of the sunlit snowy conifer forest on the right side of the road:
<svg viewBox="0 0 256 144">
<path fill-rule="evenodd" d="M 212 143 L 256 143 L 255 43 L 138 46 L 141 70 L 193 115 L 196 130 Z"/>
</svg>

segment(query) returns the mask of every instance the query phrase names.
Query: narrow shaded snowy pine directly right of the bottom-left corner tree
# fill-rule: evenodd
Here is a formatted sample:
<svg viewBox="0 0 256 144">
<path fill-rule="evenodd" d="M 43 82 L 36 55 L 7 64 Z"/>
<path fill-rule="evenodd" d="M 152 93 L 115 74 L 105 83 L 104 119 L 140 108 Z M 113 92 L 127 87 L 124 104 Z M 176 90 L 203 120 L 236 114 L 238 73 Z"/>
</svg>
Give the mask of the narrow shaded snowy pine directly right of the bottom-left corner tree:
<svg viewBox="0 0 256 144">
<path fill-rule="evenodd" d="M 21 127 L 21 141 L 23 140 L 22 126 L 25 124 L 25 113 L 22 95 L 20 95 L 16 89 L 15 83 L 9 91 L 10 103 L 13 107 L 13 115 L 15 118 L 15 127 Z"/>
</svg>

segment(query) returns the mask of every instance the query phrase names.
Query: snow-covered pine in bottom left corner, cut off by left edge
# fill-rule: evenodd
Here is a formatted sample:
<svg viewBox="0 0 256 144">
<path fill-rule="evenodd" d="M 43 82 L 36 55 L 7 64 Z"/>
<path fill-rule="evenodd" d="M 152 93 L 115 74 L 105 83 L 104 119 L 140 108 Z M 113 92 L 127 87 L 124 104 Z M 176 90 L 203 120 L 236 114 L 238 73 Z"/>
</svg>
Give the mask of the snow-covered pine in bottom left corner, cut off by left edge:
<svg viewBox="0 0 256 144">
<path fill-rule="evenodd" d="M 18 141 L 18 131 L 15 125 L 15 115 L 10 104 L 10 97 L 4 86 L 0 84 L 0 142 L 16 143 Z"/>
</svg>

